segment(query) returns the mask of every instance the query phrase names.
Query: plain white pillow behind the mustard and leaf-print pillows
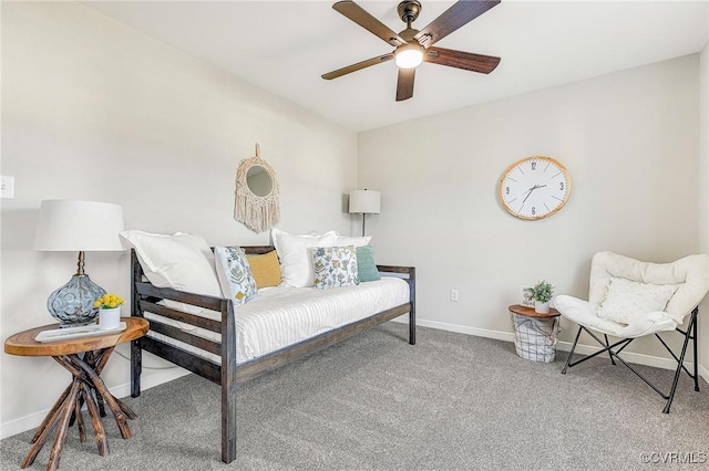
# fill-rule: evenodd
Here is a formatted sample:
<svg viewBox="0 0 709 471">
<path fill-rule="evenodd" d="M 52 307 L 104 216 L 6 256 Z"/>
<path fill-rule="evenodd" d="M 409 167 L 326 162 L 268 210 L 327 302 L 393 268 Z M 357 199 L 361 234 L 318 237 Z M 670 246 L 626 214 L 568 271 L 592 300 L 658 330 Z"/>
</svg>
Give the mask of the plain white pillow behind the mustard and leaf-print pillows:
<svg viewBox="0 0 709 471">
<path fill-rule="evenodd" d="M 282 282 L 290 286 L 312 286 L 315 271 L 312 270 L 312 247 L 332 247 L 337 232 L 330 231 L 321 236 L 296 236 L 280 229 L 271 229 L 274 247 L 280 261 Z"/>
</svg>

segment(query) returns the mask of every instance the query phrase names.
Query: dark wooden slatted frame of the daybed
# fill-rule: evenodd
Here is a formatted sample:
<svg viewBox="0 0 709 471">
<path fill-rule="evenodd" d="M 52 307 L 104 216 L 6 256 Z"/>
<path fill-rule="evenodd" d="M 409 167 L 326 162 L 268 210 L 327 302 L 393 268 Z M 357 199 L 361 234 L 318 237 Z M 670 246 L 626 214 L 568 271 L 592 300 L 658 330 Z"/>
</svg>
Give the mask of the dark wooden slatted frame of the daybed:
<svg viewBox="0 0 709 471">
<path fill-rule="evenodd" d="M 270 252 L 274 248 L 271 245 L 255 245 L 244 247 L 244 250 L 249 254 L 260 254 Z M 143 269 L 137 261 L 135 251 L 131 251 L 131 314 L 133 316 L 143 317 L 144 312 L 147 311 L 222 334 L 222 343 L 212 342 L 151 320 L 153 332 L 218 355 L 222 357 L 222 364 L 218 365 L 185 349 L 144 336 L 131 343 L 131 396 L 137 397 L 141 394 L 142 350 L 165 358 L 222 385 L 222 460 L 225 463 L 230 463 L 236 459 L 236 398 L 239 384 L 405 313 L 409 313 L 409 343 L 415 345 L 415 269 L 391 265 L 377 265 L 377 268 L 382 273 L 394 273 L 404 278 L 409 283 L 408 303 L 237 365 L 236 325 L 232 301 L 156 287 L 151 283 L 143 282 Z M 220 312 L 222 321 L 213 321 L 163 306 L 157 304 L 161 300 L 173 300 Z"/>
</svg>

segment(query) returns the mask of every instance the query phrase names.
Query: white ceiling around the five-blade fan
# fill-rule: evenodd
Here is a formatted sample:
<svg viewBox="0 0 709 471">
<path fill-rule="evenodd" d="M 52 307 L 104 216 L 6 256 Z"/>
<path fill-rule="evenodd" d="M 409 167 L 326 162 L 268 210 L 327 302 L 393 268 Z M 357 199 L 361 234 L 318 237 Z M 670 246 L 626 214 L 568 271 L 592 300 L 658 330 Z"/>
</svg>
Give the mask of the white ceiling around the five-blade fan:
<svg viewBox="0 0 709 471">
<path fill-rule="evenodd" d="M 453 1 L 421 0 L 422 29 Z M 441 40 L 497 55 L 490 75 L 434 64 L 394 101 L 392 62 L 325 81 L 393 48 L 333 1 L 85 1 L 83 4 L 350 129 L 364 130 L 701 51 L 709 0 L 506 1 Z M 358 2 L 393 31 L 398 0 Z"/>
</svg>

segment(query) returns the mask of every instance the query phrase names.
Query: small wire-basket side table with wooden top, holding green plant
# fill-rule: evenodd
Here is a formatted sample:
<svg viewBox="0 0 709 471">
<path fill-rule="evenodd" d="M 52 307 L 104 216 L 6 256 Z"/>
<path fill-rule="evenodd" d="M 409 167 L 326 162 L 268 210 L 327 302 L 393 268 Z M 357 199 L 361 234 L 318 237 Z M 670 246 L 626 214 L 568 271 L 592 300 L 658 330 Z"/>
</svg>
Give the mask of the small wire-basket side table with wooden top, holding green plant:
<svg viewBox="0 0 709 471">
<path fill-rule="evenodd" d="M 559 312 L 540 314 L 534 307 L 513 304 L 507 307 L 517 355 L 533 362 L 551 363 L 556 356 Z"/>
</svg>

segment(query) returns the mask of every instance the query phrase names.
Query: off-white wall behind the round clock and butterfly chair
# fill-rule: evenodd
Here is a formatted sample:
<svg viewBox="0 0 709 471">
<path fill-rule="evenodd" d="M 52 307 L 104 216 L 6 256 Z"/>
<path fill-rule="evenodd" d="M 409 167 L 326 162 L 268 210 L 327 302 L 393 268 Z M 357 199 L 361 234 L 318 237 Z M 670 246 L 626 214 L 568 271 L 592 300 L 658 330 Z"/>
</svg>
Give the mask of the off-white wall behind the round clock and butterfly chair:
<svg viewBox="0 0 709 471">
<path fill-rule="evenodd" d="M 510 339 L 521 285 L 585 297 L 597 251 L 699 252 L 698 82 L 695 54 L 361 133 L 359 182 L 382 192 L 377 253 L 417 266 L 422 324 Z M 561 212 L 523 221 L 496 187 L 532 155 L 561 160 L 573 191 Z M 572 342 L 576 328 L 562 328 Z M 646 341 L 629 352 L 666 356 Z"/>
</svg>

